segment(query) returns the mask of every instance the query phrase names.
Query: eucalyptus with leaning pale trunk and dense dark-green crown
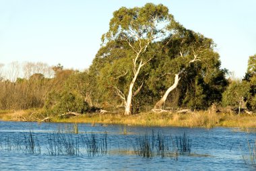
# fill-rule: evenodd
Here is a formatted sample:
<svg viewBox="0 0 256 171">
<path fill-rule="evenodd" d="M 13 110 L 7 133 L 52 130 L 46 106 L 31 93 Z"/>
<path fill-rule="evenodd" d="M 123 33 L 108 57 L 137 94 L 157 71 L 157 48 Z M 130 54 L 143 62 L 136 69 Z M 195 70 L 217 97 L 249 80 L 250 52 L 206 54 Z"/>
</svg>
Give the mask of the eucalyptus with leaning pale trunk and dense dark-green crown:
<svg viewBox="0 0 256 171">
<path fill-rule="evenodd" d="M 158 60 L 160 63 L 152 73 L 152 85 L 155 85 L 155 80 L 158 80 L 160 90 L 165 89 L 165 91 L 162 93 L 162 98 L 154 105 L 154 109 L 162 108 L 170 92 L 179 86 L 181 78 L 183 78 L 182 86 L 180 86 L 183 89 L 181 92 L 186 92 L 186 97 L 183 98 L 185 101 L 187 99 L 187 101 L 193 102 L 193 106 L 199 106 L 207 96 L 212 96 L 211 93 L 218 94 L 212 98 L 221 100 L 221 93 L 227 83 L 224 78 L 225 71 L 220 69 L 218 53 L 213 50 L 214 42 L 212 39 L 179 27 L 179 32 L 166 38 L 163 44 L 164 48 L 162 49 L 164 51 Z M 187 86 L 187 90 L 185 90 L 185 83 L 191 84 L 191 81 L 194 82 L 194 86 Z M 210 94 L 207 94 L 207 91 L 210 91 Z M 189 96 L 189 92 L 195 93 L 193 96 Z M 218 98 L 218 96 L 220 97 Z M 200 105 L 203 106 L 203 104 Z"/>
</svg>

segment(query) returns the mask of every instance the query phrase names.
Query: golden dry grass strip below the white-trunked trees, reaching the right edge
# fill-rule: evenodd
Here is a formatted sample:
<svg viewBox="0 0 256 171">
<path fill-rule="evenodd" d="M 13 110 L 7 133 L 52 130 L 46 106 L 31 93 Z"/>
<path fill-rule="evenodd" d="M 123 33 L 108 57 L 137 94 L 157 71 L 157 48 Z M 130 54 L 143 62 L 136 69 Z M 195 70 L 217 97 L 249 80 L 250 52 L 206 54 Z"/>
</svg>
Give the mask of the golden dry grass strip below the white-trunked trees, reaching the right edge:
<svg viewBox="0 0 256 171">
<path fill-rule="evenodd" d="M 124 116 L 123 114 L 87 114 L 67 119 L 53 118 L 53 121 L 65 123 L 102 123 L 104 125 L 123 124 L 160 127 L 256 128 L 256 115 L 254 114 L 220 114 L 211 111 L 199 111 L 188 114 L 143 112 L 131 116 Z"/>
</svg>

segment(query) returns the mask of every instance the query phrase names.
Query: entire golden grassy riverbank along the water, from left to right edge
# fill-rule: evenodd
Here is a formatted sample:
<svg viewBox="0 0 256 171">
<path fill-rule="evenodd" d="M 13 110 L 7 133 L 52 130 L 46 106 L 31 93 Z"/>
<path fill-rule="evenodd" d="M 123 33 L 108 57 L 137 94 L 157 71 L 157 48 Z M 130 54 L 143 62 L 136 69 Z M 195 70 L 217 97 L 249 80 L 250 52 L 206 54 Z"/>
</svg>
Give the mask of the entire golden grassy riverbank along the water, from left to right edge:
<svg viewBox="0 0 256 171">
<path fill-rule="evenodd" d="M 2 121 L 42 121 L 45 118 L 40 110 L 5 110 L 0 112 Z M 54 123 L 100 123 L 102 125 L 160 126 L 160 127 L 238 127 L 256 128 L 256 114 L 232 114 L 197 111 L 191 113 L 143 112 L 130 116 L 113 113 L 81 114 L 69 118 L 49 116 L 47 121 Z"/>
</svg>

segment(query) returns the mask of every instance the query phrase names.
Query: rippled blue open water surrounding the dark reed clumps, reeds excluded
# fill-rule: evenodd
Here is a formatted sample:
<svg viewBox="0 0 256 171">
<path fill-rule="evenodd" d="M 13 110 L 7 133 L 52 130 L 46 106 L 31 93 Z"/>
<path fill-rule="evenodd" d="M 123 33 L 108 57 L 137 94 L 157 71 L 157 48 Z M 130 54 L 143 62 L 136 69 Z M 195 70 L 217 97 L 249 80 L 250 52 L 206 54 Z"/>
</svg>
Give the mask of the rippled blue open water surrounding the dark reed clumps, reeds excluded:
<svg viewBox="0 0 256 171">
<path fill-rule="evenodd" d="M 123 126 L 79 124 L 79 134 L 73 131 L 73 125 L 63 123 L 13 123 L 0 121 L 0 170 L 255 170 L 245 164 L 243 156 L 248 156 L 248 141 L 254 141 L 256 133 L 245 133 L 233 129 L 191 129 L 177 127 L 125 127 L 127 135 L 122 135 Z M 133 151 L 131 142 L 146 133 L 155 135 L 160 132 L 166 137 L 181 136 L 186 133 L 191 139 L 191 153 L 173 157 L 143 158 Z M 30 131 L 38 139 L 40 153 L 28 153 L 24 149 L 8 150 L 9 139 L 24 139 Z M 47 139 L 53 132 L 79 139 L 95 133 L 100 137 L 107 133 L 107 153 L 88 155 L 79 145 L 77 156 L 61 154 L 51 156 L 47 150 Z M 18 137 L 18 138 L 17 138 Z M 81 142 L 80 142 L 81 143 Z"/>
</svg>

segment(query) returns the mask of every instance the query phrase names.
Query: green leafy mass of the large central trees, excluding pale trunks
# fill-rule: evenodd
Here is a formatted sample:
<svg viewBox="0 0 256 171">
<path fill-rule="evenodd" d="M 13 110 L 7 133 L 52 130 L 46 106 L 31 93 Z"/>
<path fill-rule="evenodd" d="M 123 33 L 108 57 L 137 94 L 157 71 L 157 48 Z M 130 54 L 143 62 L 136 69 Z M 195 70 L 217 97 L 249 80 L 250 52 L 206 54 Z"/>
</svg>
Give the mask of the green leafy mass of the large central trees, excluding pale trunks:
<svg viewBox="0 0 256 171">
<path fill-rule="evenodd" d="M 133 79 L 134 57 L 148 40 L 140 59 L 151 60 L 135 81 L 134 91 L 142 87 L 133 97 L 134 110 L 154 106 L 182 69 L 185 71 L 180 75 L 179 86 L 170 94 L 166 106 L 207 108 L 222 100 L 228 83 L 226 70 L 220 69 L 220 57 L 213 50 L 213 40 L 175 22 L 163 5 L 147 3 L 131 9 L 121 7 L 113 13 L 110 28 L 102 36 L 103 46 L 89 69 L 95 76 L 96 91 L 100 92 L 95 96 L 98 102 L 124 104 Z M 195 55 L 199 60 L 189 63 Z"/>
</svg>

